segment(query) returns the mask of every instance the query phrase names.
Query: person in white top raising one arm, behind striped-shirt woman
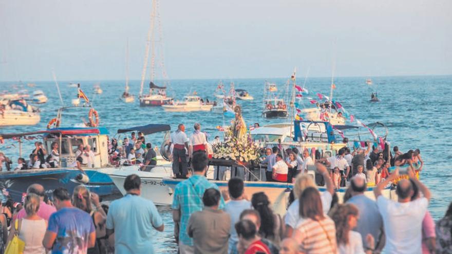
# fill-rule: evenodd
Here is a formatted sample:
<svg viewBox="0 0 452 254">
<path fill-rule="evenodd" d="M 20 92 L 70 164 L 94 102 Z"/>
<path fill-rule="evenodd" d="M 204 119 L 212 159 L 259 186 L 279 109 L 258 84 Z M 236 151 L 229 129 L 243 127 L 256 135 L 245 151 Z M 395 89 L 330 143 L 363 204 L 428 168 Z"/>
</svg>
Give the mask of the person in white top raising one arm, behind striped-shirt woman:
<svg viewBox="0 0 452 254">
<path fill-rule="evenodd" d="M 333 200 L 334 185 L 325 165 L 316 163 L 315 166 L 317 167 L 317 172 L 323 176 L 325 181 L 326 190 L 320 192 L 320 199 L 322 200 L 323 212 L 327 214 Z M 286 237 L 292 237 L 293 230 L 299 223 L 303 222 L 303 218 L 300 217 L 300 203 L 298 198 L 307 187 L 317 188 L 310 175 L 298 174 L 293 185 L 295 201 L 287 208 L 287 213 L 284 218 L 286 223 Z"/>
</svg>

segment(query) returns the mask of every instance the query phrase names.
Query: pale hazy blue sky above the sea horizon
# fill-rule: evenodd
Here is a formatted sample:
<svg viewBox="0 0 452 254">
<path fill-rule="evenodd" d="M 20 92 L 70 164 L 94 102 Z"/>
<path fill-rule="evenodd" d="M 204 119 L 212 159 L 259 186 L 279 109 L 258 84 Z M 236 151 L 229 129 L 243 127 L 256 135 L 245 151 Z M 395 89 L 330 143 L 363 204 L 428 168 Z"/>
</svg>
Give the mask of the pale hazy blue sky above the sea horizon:
<svg viewBox="0 0 452 254">
<path fill-rule="evenodd" d="M 127 41 L 139 80 L 151 10 L 0 0 L 0 81 L 124 80 Z M 170 79 L 452 74 L 451 11 L 450 0 L 159 0 L 157 53 Z"/>
</svg>

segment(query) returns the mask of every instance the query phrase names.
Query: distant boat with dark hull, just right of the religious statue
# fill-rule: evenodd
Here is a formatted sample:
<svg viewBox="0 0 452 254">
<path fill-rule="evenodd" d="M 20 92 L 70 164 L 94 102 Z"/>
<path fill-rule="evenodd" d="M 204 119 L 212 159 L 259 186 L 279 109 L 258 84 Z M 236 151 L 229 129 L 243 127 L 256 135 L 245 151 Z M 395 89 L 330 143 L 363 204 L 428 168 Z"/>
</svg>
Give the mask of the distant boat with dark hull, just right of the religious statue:
<svg viewBox="0 0 452 254">
<path fill-rule="evenodd" d="M 288 118 L 289 111 L 284 99 L 278 97 L 276 84 L 265 82 L 263 96 L 263 118 Z"/>
</svg>

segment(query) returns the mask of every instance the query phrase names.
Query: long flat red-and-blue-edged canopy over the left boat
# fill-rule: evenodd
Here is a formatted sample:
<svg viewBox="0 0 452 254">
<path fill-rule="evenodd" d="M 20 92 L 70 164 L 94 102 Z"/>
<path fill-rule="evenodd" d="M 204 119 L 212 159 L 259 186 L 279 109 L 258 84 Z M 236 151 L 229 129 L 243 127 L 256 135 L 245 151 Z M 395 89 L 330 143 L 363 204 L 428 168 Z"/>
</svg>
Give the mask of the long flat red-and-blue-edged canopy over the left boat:
<svg viewBox="0 0 452 254">
<path fill-rule="evenodd" d="M 54 128 L 48 130 L 40 130 L 40 131 L 32 131 L 32 132 L 21 132 L 21 133 L 4 133 L 0 134 L 0 139 L 13 139 L 13 138 L 21 138 L 23 136 L 30 136 L 36 134 L 59 134 L 59 135 L 91 135 L 91 134 L 108 134 L 108 130 L 106 128 Z"/>
</svg>

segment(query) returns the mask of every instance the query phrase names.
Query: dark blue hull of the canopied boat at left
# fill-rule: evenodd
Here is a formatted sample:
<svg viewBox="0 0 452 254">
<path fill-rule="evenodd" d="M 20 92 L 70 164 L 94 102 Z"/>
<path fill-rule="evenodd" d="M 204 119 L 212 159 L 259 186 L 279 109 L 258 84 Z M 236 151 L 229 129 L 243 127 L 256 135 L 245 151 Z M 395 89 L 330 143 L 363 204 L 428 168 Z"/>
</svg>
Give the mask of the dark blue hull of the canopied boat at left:
<svg viewBox="0 0 452 254">
<path fill-rule="evenodd" d="M 110 177 L 96 170 L 85 170 L 89 183 L 85 184 L 90 191 L 99 196 L 119 193 Z M 6 189 L 15 202 L 21 202 L 29 185 L 37 183 L 44 186 L 46 193 L 51 194 L 58 187 L 66 188 L 70 193 L 80 185 L 73 181 L 80 174 L 77 169 L 35 169 L 0 173 L 0 188 Z"/>
</svg>

